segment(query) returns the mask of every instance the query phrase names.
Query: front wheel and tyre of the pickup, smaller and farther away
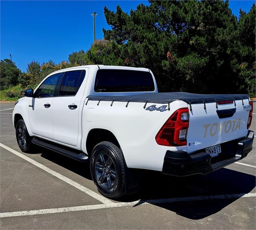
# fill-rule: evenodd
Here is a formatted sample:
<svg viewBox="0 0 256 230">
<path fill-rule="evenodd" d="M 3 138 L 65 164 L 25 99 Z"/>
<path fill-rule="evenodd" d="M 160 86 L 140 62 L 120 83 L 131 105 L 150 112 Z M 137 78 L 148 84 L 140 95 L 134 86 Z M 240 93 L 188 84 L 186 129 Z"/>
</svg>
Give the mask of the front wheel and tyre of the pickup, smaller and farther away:
<svg viewBox="0 0 256 230">
<path fill-rule="evenodd" d="M 24 120 L 18 120 L 16 124 L 16 139 L 18 146 L 22 152 L 29 153 L 32 150 L 31 138 L 28 134 L 28 130 Z"/>
</svg>

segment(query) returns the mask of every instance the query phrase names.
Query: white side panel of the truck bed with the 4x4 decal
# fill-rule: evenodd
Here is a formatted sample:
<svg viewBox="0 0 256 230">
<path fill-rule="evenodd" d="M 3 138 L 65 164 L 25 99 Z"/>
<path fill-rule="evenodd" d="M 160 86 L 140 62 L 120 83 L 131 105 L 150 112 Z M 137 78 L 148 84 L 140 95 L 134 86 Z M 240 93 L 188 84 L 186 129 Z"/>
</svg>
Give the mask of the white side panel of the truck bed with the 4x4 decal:
<svg viewBox="0 0 256 230">
<path fill-rule="evenodd" d="M 82 132 L 87 136 L 88 132 L 94 128 L 103 128 L 112 132 L 122 148 L 126 164 L 129 168 L 143 168 L 151 170 L 162 170 L 164 155 L 167 150 L 185 150 L 186 146 L 168 147 L 156 143 L 155 137 L 160 128 L 180 107 L 187 107 L 183 101 L 174 101 L 170 111 L 159 112 L 145 110 L 144 103 L 116 102 L 110 106 L 111 102 L 101 101 L 88 102 L 84 113 Z M 153 105 L 148 103 L 147 107 Z M 156 104 L 160 107 L 162 104 Z M 94 108 L 94 109 L 90 109 Z M 90 121 L 88 121 L 90 120 Z M 83 151 L 86 152 L 86 142 L 83 142 Z"/>
</svg>

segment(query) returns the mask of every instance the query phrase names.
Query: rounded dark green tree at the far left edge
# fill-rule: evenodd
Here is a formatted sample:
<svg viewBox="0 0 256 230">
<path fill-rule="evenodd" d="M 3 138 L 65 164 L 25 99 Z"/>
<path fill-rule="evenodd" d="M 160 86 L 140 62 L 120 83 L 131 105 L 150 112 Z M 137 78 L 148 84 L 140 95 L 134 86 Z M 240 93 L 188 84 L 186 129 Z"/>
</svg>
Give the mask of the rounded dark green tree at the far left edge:
<svg viewBox="0 0 256 230">
<path fill-rule="evenodd" d="M 0 90 L 16 86 L 20 70 L 10 59 L 0 62 Z"/>
</svg>

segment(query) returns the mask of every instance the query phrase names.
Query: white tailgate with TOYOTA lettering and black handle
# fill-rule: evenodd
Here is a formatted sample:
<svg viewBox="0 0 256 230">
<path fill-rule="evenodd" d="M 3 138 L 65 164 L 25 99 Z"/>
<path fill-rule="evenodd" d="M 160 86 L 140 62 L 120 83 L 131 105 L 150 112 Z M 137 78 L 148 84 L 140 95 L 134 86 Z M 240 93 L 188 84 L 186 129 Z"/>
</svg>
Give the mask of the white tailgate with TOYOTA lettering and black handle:
<svg viewBox="0 0 256 230">
<path fill-rule="evenodd" d="M 192 105 L 187 134 L 188 153 L 247 135 L 249 101 L 235 102 Z"/>
</svg>

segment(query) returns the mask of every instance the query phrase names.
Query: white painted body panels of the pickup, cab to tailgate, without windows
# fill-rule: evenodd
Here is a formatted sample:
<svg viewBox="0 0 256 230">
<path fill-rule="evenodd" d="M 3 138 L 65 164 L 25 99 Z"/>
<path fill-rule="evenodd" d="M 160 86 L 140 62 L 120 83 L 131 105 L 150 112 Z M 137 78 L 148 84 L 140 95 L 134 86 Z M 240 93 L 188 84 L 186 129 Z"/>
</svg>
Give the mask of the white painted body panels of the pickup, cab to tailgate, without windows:
<svg viewBox="0 0 256 230">
<path fill-rule="evenodd" d="M 114 69 L 127 69 L 127 70 L 140 70 L 150 71 L 146 68 L 132 68 L 123 66 L 99 66 L 103 68 Z M 126 108 L 127 102 L 116 102 L 110 106 L 111 102 L 101 101 L 99 105 L 98 101 L 90 101 L 87 103 L 86 97 L 88 95 L 131 95 L 140 94 L 141 92 L 120 92 L 120 93 L 99 93 L 94 92 L 94 82 L 96 72 L 99 68 L 96 65 L 79 66 L 74 68 L 67 68 L 64 70 L 58 70 L 52 74 L 59 72 L 65 72 L 67 70 L 86 70 L 86 76 L 76 96 L 63 96 L 53 98 L 21 98 L 13 111 L 13 117 L 15 114 L 21 114 L 30 136 L 38 136 L 46 140 L 51 140 L 64 146 L 69 146 L 78 150 L 86 151 L 86 138 L 90 130 L 94 128 L 101 128 L 109 130 L 114 134 L 118 140 L 126 164 L 128 168 L 142 168 L 149 170 L 162 171 L 164 162 L 164 156 L 167 150 L 184 150 L 189 153 L 195 150 L 210 147 L 215 144 L 220 144 L 228 140 L 234 140 L 236 138 L 246 136 L 247 134 L 247 119 L 248 113 L 245 112 L 241 101 L 237 101 L 237 111 L 232 119 L 241 119 L 240 129 L 234 132 L 229 132 L 214 137 L 204 138 L 204 124 L 213 124 L 214 122 L 225 122 L 231 120 L 230 118 L 219 119 L 216 114 L 216 104 L 206 104 L 206 110 L 204 110 L 203 104 L 193 104 L 192 112 L 190 111 L 190 125 L 188 130 L 188 143 L 197 142 L 190 146 L 178 146 L 168 147 L 161 146 L 156 143 L 155 136 L 168 120 L 171 114 L 178 108 L 188 107 L 186 102 L 176 100 L 170 104 L 170 111 L 160 112 L 145 110 L 142 102 L 130 102 Z M 152 72 L 150 71 L 152 74 Z M 46 78 L 51 76 L 48 75 Z M 152 74 L 153 76 L 153 74 Z M 46 79 L 45 78 L 45 79 Z M 153 76 L 154 79 L 154 76 Z M 42 81 L 43 82 L 43 81 Z M 41 82 L 41 83 L 42 83 Z M 40 84 L 41 84 L 40 83 Z M 39 85 L 40 85 L 39 84 Z M 155 90 L 151 93 L 157 93 L 156 81 L 154 79 Z M 37 87 L 38 88 L 38 87 Z M 36 88 L 36 89 L 37 89 Z M 32 100 L 44 99 L 48 103 L 52 100 L 51 107 L 48 109 L 40 107 L 36 104 L 35 110 L 38 110 L 38 115 L 32 119 L 32 108 L 28 107 Z M 76 104 L 78 108 L 70 110 L 69 104 Z M 248 100 L 244 100 L 245 105 L 248 104 Z M 155 104 L 155 103 L 154 103 Z M 148 103 L 148 106 L 153 103 Z M 155 104 L 157 107 L 163 104 Z M 233 105 L 234 106 L 234 105 Z M 219 105 L 219 109 L 233 108 L 232 105 Z M 29 111 L 29 112 L 28 112 Z M 51 114 L 51 120 L 49 120 L 49 111 Z M 52 134 L 51 134 L 52 132 Z"/>
</svg>

